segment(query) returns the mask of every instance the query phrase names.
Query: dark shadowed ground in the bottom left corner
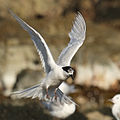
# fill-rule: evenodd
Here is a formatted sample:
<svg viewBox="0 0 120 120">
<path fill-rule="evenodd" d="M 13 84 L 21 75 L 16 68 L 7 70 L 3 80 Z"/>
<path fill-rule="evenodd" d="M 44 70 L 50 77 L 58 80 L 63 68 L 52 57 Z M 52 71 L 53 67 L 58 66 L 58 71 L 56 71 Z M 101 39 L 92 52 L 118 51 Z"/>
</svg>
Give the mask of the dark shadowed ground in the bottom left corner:
<svg viewBox="0 0 120 120">
<path fill-rule="evenodd" d="M 0 105 L 0 120 L 52 120 L 38 104 L 24 106 Z"/>
</svg>

